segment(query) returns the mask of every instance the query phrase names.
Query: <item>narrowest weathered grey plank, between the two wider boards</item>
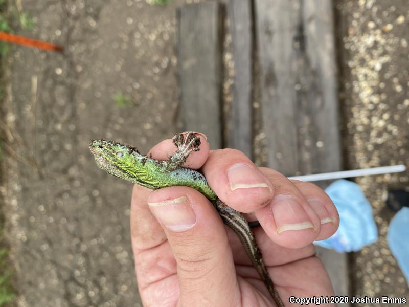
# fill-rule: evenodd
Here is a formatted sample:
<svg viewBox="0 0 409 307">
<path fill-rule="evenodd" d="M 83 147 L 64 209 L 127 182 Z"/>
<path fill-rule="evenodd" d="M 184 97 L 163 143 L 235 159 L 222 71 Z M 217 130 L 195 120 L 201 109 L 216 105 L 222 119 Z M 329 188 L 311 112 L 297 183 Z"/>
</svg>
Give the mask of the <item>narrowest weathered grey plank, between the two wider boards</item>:
<svg viewBox="0 0 409 307">
<path fill-rule="evenodd" d="M 250 0 L 229 0 L 233 41 L 234 86 L 228 146 L 252 158 L 252 7 Z"/>
</svg>

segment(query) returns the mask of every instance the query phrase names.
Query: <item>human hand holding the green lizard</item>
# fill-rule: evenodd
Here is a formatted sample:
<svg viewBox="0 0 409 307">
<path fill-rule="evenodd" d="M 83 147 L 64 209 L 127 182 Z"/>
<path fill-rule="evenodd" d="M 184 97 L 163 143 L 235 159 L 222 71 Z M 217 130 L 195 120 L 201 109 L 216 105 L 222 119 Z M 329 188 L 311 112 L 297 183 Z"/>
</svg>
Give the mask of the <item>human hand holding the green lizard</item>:
<svg viewBox="0 0 409 307">
<path fill-rule="evenodd" d="M 200 169 L 224 203 L 251 213 L 249 220 L 259 220 L 261 227 L 253 232 L 284 304 L 291 305 L 290 296 L 333 295 L 311 244 L 338 227 L 338 213 L 328 195 L 314 184 L 257 168 L 238 150 L 209 151 L 206 139 L 200 138 L 201 150 L 184 166 Z M 150 153 L 167 160 L 174 151 L 169 139 Z M 275 305 L 236 234 L 192 188 L 152 191 L 135 185 L 131 237 L 145 306 Z"/>
</svg>

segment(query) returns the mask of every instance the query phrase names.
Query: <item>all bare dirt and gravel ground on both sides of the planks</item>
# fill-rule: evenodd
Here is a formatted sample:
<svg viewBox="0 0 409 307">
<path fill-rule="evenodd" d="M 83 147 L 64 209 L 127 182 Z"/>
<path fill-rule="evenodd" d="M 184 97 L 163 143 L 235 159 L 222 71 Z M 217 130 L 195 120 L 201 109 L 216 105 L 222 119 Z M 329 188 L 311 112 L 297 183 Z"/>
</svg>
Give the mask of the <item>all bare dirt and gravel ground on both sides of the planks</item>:
<svg viewBox="0 0 409 307">
<path fill-rule="evenodd" d="M 15 152 L 6 159 L 3 209 L 18 306 L 140 306 L 129 234 L 132 184 L 98 169 L 88 143 L 115 139 L 146 152 L 179 130 L 175 8 L 185 2 L 19 3 L 36 23 L 19 34 L 65 51 L 15 47 L 10 59 L 4 106 Z M 335 4 L 346 167 L 409 165 L 408 6 Z M 113 98 L 118 93 L 129 96 L 125 106 Z M 353 255 L 356 295 L 409 298 L 385 240 L 392 213 L 382 201 L 388 186 L 408 182 L 407 173 L 358 180 L 381 237 Z"/>
</svg>

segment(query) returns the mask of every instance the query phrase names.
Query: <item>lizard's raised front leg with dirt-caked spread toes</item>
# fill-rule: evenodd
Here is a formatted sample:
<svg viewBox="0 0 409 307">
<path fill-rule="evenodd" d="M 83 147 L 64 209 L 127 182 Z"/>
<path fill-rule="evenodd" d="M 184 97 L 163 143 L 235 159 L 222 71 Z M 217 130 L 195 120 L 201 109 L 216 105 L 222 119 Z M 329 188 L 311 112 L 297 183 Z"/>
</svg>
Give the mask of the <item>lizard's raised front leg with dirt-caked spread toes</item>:
<svg viewBox="0 0 409 307">
<path fill-rule="evenodd" d="M 193 132 L 189 132 L 186 137 L 181 133 L 177 134 L 173 139 L 173 144 L 175 144 L 177 150 L 173 156 L 170 156 L 166 161 L 165 173 L 169 173 L 181 167 L 191 152 L 200 150 L 200 138 Z"/>
</svg>

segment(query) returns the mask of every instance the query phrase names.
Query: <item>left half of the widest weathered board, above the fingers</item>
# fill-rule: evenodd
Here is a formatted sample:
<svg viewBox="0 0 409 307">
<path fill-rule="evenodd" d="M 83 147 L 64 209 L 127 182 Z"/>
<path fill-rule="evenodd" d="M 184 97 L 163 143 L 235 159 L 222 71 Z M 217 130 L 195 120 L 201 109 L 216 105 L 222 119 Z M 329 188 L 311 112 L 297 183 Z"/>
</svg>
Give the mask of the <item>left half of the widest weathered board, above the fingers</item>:
<svg viewBox="0 0 409 307">
<path fill-rule="evenodd" d="M 268 165 L 286 175 L 298 169 L 294 125 L 294 49 L 298 9 L 294 0 L 256 0 L 257 45 L 261 66 L 261 109 L 268 141 Z"/>
</svg>

